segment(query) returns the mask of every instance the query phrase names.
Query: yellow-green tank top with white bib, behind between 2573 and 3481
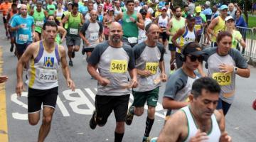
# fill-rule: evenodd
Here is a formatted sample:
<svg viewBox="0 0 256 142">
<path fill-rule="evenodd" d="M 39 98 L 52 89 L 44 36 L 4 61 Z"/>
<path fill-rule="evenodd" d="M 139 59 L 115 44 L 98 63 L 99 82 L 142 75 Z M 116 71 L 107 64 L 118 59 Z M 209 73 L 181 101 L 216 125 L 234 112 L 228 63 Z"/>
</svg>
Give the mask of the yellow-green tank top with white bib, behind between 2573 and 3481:
<svg viewBox="0 0 256 142">
<path fill-rule="evenodd" d="M 78 12 L 77 16 L 73 16 L 72 13 L 68 13 L 68 35 L 69 36 L 78 36 L 80 30 L 80 23 L 82 23 L 81 13 Z"/>
</svg>

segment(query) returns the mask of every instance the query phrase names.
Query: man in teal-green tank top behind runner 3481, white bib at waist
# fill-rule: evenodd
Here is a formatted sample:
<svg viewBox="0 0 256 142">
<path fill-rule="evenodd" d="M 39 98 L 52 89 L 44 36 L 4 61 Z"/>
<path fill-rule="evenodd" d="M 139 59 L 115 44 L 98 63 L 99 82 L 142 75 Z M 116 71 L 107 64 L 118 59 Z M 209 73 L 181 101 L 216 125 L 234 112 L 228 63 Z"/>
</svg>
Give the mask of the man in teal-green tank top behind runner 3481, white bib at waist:
<svg viewBox="0 0 256 142">
<path fill-rule="evenodd" d="M 134 1 L 127 0 L 126 3 L 127 11 L 119 13 L 115 17 L 115 21 L 122 19 L 122 29 L 124 31 L 123 42 L 131 45 L 134 45 L 138 42 L 139 31 L 138 28 L 144 29 L 144 21 L 142 14 L 134 11 Z M 132 32 L 131 32 L 132 31 Z"/>
</svg>

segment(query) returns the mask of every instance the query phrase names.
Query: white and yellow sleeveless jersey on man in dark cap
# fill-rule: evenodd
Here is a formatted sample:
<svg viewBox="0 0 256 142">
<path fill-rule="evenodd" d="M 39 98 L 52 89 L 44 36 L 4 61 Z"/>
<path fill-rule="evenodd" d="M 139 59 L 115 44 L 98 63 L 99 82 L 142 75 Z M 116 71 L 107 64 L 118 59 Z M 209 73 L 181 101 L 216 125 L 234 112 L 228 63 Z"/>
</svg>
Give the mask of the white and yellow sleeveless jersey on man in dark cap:
<svg viewBox="0 0 256 142">
<path fill-rule="evenodd" d="M 183 45 L 185 45 L 186 43 L 190 43 L 196 40 L 196 30 L 195 28 L 193 28 L 193 31 L 189 31 L 188 27 L 185 26 L 185 33 L 183 33 L 183 35 L 178 38 L 178 43 L 179 45 L 181 45 L 181 47 Z M 176 48 L 176 52 L 177 53 L 181 53 L 181 49 Z"/>
</svg>

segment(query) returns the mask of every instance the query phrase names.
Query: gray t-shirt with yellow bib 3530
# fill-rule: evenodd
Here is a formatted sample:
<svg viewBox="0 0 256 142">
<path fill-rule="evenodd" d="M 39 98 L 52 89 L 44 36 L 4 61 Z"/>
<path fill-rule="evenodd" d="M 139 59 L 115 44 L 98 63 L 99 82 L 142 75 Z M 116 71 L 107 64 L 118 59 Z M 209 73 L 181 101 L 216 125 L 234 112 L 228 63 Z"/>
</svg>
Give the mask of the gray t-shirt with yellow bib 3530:
<svg viewBox="0 0 256 142">
<path fill-rule="evenodd" d="M 213 77 L 220 84 L 220 99 L 232 104 L 235 98 L 235 73 L 223 75 L 220 72 L 219 65 L 224 63 L 245 69 L 248 67 L 245 58 L 238 50 L 233 48 L 225 56 L 218 55 L 217 48 L 206 48 L 203 51 L 208 54 L 208 57 L 205 58 L 208 77 Z"/>
</svg>

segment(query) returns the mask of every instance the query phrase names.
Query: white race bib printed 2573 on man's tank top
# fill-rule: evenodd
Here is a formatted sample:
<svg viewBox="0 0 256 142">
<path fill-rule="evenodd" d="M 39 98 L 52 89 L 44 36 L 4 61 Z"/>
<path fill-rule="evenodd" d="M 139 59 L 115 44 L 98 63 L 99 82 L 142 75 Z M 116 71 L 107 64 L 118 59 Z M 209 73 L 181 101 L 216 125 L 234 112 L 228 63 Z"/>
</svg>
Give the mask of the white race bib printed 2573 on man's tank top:
<svg viewBox="0 0 256 142">
<path fill-rule="evenodd" d="M 39 80 L 43 82 L 57 82 L 57 70 L 41 69 L 39 72 Z"/>
</svg>

